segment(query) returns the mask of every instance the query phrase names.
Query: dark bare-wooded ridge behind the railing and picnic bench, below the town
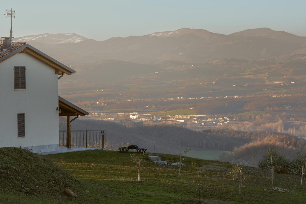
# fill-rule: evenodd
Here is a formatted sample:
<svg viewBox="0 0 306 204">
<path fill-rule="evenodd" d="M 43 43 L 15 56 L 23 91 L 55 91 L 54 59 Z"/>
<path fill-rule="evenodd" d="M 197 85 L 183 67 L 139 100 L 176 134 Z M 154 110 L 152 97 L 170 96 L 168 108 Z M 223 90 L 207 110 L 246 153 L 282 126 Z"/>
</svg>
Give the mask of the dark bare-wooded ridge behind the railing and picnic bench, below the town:
<svg viewBox="0 0 306 204">
<path fill-rule="evenodd" d="M 65 120 L 60 120 L 60 129 L 65 129 Z M 120 123 L 98 120 L 76 120 L 71 124 L 72 130 L 106 130 L 108 144 L 118 149 L 122 143 L 138 145 L 166 154 L 178 154 L 183 148 L 192 150 L 224 150 L 232 151 L 268 135 L 278 133 L 242 132 L 234 130 L 205 130 L 193 131 L 174 125 L 144 125 L 133 121 Z M 289 137 L 289 136 L 288 136 Z M 118 146 L 118 147 L 117 147 Z"/>
</svg>

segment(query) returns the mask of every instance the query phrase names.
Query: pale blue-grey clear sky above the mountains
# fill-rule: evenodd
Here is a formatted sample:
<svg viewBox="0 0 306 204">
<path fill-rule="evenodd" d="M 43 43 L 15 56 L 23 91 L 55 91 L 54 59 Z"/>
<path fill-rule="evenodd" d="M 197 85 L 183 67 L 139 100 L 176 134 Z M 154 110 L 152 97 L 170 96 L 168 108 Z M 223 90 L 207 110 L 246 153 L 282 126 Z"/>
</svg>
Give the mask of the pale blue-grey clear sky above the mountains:
<svg viewBox="0 0 306 204">
<path fill-rule="evenodd" d="M 268 27 L 306 36 L 305 0 L 14 0 L 2 1 L 0 14 L 10 8 L 14 37 L 77 33 L 105 40 L 186 27 L 222 34 Z M 0 15 L 0 35 L 9 28 Z"/>
</svg>

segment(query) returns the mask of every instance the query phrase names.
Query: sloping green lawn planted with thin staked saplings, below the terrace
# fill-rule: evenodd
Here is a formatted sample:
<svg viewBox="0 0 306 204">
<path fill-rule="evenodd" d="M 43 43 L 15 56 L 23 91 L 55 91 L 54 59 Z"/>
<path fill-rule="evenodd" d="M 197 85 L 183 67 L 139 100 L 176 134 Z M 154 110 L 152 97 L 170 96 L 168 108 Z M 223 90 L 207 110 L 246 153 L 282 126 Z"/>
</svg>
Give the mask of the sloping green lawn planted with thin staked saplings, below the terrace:
<svg viewBox="0 0 306 204">
<path fill-rule="evenodd" d="M 200 176 L 201 203 L 304 203 L 306 190 L 300 189 L 299 177 L 277 174 L 274 185 L 290 192 L 271 191 L 266 172 L 253 167 L 243 167 L 247 180 L 243 181 L 245 188 L 239 196 L 238 181 L 226 175 L 232 165 L 218 161 L 185 158 L 180 177 L 178 166 L 153 164 L 146 155 L 138 182 L 131 154 L 92 150 L 48 155 L 45 158 L 53 159 L 56 165 L 84 183 L 90 192 L 80 186 L 75 189 L 78 197 L 70 198 L 58 192 L 27 195 L 2 188 L 0 199 L 4 203 L 198 203 L 193 161 L 196 174 Z M 174 155 L 158 155 L 168 163 L 178 161 Z"/>
</svg>

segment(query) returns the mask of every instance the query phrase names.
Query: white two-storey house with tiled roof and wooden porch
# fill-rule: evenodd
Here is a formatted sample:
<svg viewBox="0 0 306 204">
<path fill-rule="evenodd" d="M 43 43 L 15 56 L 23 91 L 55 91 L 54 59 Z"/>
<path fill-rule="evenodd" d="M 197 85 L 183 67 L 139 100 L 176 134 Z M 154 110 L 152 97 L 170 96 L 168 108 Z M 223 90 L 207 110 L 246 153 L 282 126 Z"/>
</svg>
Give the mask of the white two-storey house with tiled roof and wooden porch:
<svg viewBox="0 0 306 204">
<path fill-rule="evenodd" d="M 58 80 L 75 71 L 27 43 L 2 38 L 0 147 L 27 147 L 34 152 L 58 150 L 59 116 L 67 117 L 67 147 L 71 147 L 70 116 L 88 113 L 58 96 Z"/>
</svg>

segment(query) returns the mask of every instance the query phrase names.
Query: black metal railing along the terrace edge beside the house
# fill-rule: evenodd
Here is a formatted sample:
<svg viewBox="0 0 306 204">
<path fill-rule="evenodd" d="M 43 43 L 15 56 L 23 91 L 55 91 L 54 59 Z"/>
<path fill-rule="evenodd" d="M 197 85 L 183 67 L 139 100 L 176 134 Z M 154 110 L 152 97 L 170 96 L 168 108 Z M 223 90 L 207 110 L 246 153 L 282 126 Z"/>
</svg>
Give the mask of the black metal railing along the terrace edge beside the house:
<svg viewBox="0 0 306 204">
<path fill-rule="evenodd" d="M 71 147 L 105 148 L 106 131 L 71 130 Z M 59 131 L 59 146 L 67 146 L 67 131 Z"/>
</svg>

